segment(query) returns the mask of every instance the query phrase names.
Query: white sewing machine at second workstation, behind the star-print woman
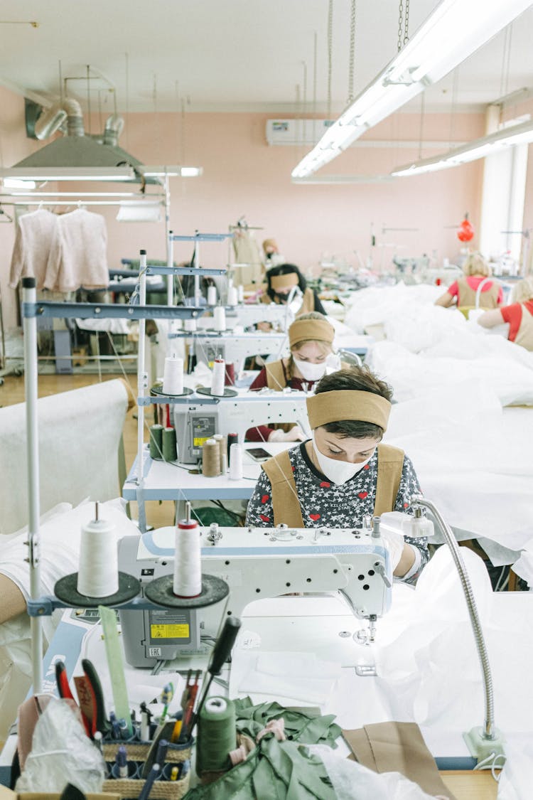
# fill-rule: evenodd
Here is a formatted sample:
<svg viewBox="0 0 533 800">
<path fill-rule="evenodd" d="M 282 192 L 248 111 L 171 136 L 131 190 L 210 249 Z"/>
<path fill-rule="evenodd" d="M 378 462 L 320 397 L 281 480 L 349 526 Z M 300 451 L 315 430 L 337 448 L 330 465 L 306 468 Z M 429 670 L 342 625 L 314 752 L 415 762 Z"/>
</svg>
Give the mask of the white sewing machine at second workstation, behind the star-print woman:
<svg viewBox="0 0 533 800">
<path fill-rule="evenodd" d="M 183 464 L 196 464 L 201 446 L 213 434 L 238 434 L 239 442 L 244 442 L 249 428 L 268 423 L 297 422 L 310 435 L 307 396 L 293 390 L 239 390 L 233 398 L 184 398 L 184 402 L 173 405 L 178 458 Z"/>
</svg>

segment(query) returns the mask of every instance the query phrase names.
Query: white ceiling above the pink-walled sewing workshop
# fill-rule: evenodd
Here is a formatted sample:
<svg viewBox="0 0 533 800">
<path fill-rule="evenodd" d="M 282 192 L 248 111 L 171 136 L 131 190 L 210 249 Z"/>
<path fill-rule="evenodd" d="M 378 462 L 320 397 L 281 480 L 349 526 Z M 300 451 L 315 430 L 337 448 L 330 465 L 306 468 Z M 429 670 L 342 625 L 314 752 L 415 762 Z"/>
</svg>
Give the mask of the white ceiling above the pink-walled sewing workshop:
<svg viewBox="0 0 533 800">
<path fill-rule="evenodd" d="M 437 5 L 411 0 L 411 33 Z M 333 2 L 333 114 L 348 98 L 350 8 L 351 0 Z M 62 78 L 83 78 L 69 80 L 68 93 L 85 109 L 90 85 L 93 110 L 104 112 L 113 110 L 113 86 L 122 113 L 183 104 L 191 111 L 323 114 L 327 18 L 328 0 L 0 0 L 0 82 L 55 98 L 61 62 Z M 471 109 L 533 86 L 532 30 L 530 8 L 456 70 L 455 84 L 451 74 L 427 90 L 426 109 Z M 395 56 L 397 31 L 396 0 L 358 0 L 355 94 Z"/>
</svg>

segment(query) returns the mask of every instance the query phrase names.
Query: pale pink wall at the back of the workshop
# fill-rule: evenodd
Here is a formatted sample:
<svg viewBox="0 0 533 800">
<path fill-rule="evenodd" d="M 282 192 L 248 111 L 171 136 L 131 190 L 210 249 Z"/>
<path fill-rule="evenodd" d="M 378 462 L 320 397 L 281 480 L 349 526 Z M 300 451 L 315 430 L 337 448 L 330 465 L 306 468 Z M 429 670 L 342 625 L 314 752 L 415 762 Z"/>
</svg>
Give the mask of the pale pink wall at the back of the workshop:
<svg viewBox="0 0 533 800">
<path fill-rule="evenodd" d="M 0 87 L 0 130 L 2 160 L 10 166 L 35 149 L 26 138 L 24 102 Z M 301 147 L 268 146 L 265 123 L 272 114 L 129 114 L 121 146 L 147 164 L 200 165 L 201 178 L 171 179 L 171 227 L 175 233 L 222 232 L 243 214 L 249 225 L 262 226 L 263 238 L 277 239 L 285 258 L 304 270 L 315 270 L 320 258 L 345 258 L 356 264 L 354 250 L 368 256 L 370 226 L 374 224 L 377 244 L 375 262 L 384 266 L 397 252 L 401 256 L 423 253 L 453 258 L 459 250 L 455 230 L 464 211 L 479 223 L 482 162 L 417 178 L 403 178 L 386 184 L 350 186 L 294 186 L 290 172 L 305 150 Z M 92 132 L 101 128 L 92 120 Z M 423 141 L 467 141 L 483 135 L 483 114 L 456 114 L 451 126 L 449 114 L 426 114 Z M 185 135 L 183 135 L 185 134 Z M 420 138 L 420 115 L 394 114 L 371 130 L 365 139 L 410 140 Z M 40 145 L 39 145 L 40 146 Z M 424 157 L 434 154 L 424 148 Z M 419 157 L 419 148 L 407 150 L 353 147 L 324 170 L 328 174 L 388 174 L 393 167 Z M 533 217 L 533 166 L 527 188 L 526 219 Z M 110 185 L 108 184 L 108 187 Z M 75 190 L 75 186 L 70 189 Z M 78 186 L 79 190 L 105 188 Z M 113 190 L 126 185 L 113 184 Z M 141 248 L 149 257 L 165 258 L 164 223 L 116 222 L 117 209 L 96 207 L 108 222 L 109 266 L 121 258 L 136 258 Z M 416 232 L 382 234 L 382 226 L 418 228 Z M 6 288 L 14 226 L 0 225 L 0 257 L 4 320 L 14 324 L 14 292 Z M 475 246 L 474 239 L 473 245 Z M 389 246 L 396 244 L 396 247 Z M 226 244 L 201 246 L 204 266 L 221 266 L 227 261 Z M 189 258 L 189 244 L 176 245 L 176 258 Z"/>
</svg>

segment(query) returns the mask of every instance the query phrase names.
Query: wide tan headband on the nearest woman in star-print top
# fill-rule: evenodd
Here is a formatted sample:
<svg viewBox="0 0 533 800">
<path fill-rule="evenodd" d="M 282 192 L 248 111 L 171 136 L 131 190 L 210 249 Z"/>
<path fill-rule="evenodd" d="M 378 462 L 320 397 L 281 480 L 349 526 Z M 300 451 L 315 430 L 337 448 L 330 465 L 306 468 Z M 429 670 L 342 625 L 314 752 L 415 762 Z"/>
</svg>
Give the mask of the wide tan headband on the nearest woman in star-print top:
<svg viewBox="0 0 533 800">
<path fill-rule="evenodd" d="M 307 414 L 312 430 L 328 422 L 343 422 L 345 419 L 373 422 L 387 430 L 390 413 L 390 402 L 373 392 L 341 389 L 307 398 Z"/>
</svg>

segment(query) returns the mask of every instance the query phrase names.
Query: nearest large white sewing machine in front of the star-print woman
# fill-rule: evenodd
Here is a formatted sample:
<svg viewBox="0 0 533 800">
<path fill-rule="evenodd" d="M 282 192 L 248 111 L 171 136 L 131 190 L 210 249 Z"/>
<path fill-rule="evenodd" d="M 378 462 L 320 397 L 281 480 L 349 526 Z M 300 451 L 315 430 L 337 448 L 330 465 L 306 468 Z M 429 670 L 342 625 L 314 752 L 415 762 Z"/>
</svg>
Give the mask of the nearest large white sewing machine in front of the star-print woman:
<svg viewBox="0 0 533 800">
<path fill-rule="evenodd" d="M 360 529 L 201 527 L 202 571 L 229 585 L 224 603 L 200 609 L 121 610 L 126 661 L 150 667 L 158 661 L 206 651 L 202 638 L 216 636 L 222 616 L 240 616 L 253 600 L 290 593 L 339 591 L 357 618 L 370 623 L 391 603 L 392 567 L 380 526 Z M 141 586 L 172 574 L 174 528 L 119 542 L 119 569 Z M 143 588 L 144 592 L 144 588 Z M 221 608 L 221 606 L 223 606 Z M 354 643 L 354 658 L 356 644 Z"/>
</svg>

